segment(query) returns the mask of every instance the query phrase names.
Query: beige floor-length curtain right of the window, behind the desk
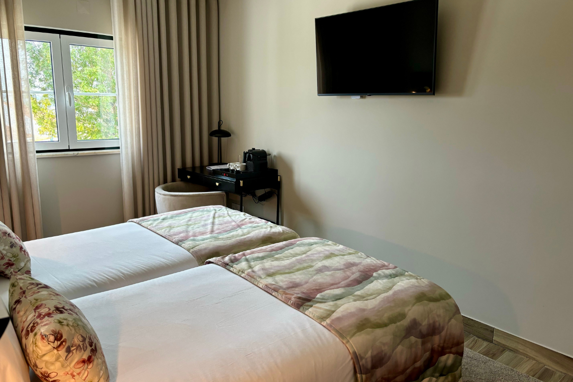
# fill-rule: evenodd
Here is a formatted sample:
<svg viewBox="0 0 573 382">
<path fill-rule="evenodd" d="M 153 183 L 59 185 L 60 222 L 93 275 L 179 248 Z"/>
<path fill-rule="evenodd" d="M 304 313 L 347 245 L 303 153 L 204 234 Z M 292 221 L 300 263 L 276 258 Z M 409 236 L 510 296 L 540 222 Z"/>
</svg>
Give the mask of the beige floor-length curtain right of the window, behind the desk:
<svg viewBox="0 0 573 382">
<path fill-rule="evenodd" d="M 219 120 L 217 0 L 112 0 L 124 218 L 209 163 Z M 212 155 L 212 153 L 211 153 Z"/>
</svg>

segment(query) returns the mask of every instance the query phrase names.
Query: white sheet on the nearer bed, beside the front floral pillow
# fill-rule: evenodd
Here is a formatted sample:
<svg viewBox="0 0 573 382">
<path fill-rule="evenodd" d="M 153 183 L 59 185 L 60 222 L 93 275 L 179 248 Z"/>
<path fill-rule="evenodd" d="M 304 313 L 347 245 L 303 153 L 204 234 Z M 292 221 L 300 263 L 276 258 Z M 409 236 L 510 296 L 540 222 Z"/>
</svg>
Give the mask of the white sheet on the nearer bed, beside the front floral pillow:
<svg viewBox="0 0 573 382">
<path fill-rule="evenodd" d="M 352 382 L 346 346 L 252 283 L 205 265 L 73 301 L 111 382 Z"/>
</svg>

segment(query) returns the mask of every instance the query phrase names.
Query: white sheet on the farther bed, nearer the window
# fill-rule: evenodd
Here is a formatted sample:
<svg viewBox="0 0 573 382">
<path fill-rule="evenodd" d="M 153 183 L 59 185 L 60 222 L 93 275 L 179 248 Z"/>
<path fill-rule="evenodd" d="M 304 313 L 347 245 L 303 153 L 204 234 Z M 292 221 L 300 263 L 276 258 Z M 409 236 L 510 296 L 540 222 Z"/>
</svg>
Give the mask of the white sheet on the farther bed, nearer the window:
<svg viewBox="0 0 573 382">
<path fill-rule="evenodd" d="M 32 276 L 70 300 L 198 266 L 189 251 L 137 223 L 24 244 Z"/>
</svg>

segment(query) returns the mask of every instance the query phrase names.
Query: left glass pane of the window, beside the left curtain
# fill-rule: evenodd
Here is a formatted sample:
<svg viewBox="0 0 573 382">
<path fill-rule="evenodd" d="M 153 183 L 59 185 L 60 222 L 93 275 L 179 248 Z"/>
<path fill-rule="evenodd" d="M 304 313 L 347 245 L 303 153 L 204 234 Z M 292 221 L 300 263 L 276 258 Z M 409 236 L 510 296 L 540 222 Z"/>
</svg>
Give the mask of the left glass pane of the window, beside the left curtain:
<svg viewBox="0 0 573 382">
<path fill-rule="evenodd" d="M 30 101 L 36 142 L 58 140 L 56 97 L 52 68 L 52 45 L 45 41 L 26 41 Z"/>
</svg>

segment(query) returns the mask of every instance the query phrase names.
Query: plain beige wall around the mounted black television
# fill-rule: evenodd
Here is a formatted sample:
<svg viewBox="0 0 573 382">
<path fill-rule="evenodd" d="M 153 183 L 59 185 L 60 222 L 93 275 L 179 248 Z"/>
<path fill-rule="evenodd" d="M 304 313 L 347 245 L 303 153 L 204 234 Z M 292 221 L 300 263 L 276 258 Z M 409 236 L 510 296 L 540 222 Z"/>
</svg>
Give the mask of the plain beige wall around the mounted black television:
<svg viewBox="0 0 573 382">
<path fill-rule="evenodd" d="M 268 149 L 301 236 L 573 356 L 573 2 L 441 0 L 437 96 L 318 97 L 314 18 L 391 2 L 219 0 L 227 160 Z"/>
</svg>

